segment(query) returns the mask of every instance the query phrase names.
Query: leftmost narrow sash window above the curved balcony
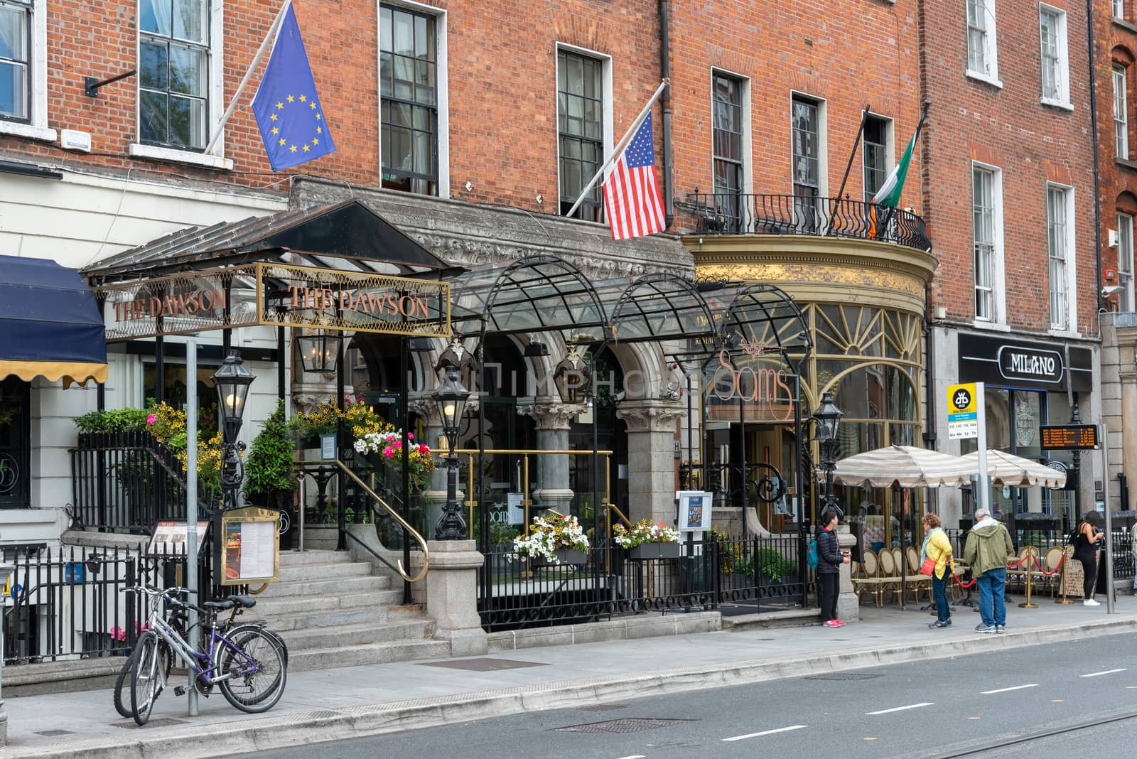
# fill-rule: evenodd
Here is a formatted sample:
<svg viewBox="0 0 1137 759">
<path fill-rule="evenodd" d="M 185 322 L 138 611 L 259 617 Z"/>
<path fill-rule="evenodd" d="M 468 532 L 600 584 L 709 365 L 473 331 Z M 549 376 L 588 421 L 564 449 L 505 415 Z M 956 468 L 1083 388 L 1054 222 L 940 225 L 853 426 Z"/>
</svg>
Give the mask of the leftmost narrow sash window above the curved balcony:
<svg viewBox="0 0 1137 759">
<path fill-rule="evenodd" d="M 725 231 L 737 232 L 742 223 L 746 191 L 746 123 L 742 97 L 746 82 L 714 72 L 711 77 L 711 142 L 714 161 L 714 205 Z"/>
</svg>

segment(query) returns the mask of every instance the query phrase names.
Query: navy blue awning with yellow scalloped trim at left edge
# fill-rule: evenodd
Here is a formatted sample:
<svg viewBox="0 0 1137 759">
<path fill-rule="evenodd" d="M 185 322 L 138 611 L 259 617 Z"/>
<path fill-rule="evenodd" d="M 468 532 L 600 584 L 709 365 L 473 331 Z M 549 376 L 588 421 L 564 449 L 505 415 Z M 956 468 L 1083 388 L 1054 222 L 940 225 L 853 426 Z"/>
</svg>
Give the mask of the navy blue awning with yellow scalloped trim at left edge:
<svg viewBox="0 0 1137 759">
<path fill-rule="evenodd" d="M 102 315 L 75 269 L 0 256 L 0 380 L 13 375 L 107 381 Z"/>
</svg>

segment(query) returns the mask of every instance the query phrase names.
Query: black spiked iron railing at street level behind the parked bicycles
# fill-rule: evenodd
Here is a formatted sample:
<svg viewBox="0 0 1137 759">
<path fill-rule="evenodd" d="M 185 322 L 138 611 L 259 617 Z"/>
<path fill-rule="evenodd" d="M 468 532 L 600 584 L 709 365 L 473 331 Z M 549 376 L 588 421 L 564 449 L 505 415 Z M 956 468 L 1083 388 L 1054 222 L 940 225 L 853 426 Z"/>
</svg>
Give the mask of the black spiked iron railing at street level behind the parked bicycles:
<svg viewBox="0 0 1137 759">
<path fill-rule="evenodd" d="M 247 592 L 244 585 L 213 586 L 213 551 L 200 552 L 198 598 Z M 151 587 L 186 585 L 185 556 L 122 549 L 68 547 L 19 556 L 3 611 L 7 665 L 126 656 L 146 624 L 146 604 L 124 593 L 144 579 Z"/>
</svg>

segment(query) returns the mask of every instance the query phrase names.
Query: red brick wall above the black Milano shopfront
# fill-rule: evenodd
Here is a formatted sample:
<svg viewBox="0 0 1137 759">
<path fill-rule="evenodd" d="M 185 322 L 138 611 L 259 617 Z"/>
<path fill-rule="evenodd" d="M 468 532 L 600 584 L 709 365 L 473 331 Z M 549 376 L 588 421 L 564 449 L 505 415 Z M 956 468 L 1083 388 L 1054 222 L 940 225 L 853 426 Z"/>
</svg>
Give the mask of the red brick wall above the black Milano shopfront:
<svg viewBox="0 0 1137 759">
<path fill-rule="evenodd" d="M 965 3 L 921 3 L 924 92 L 932 101 L 923 139 L 923 209 L 940 266 L 931 303 L 949 319 L 974 318 L 971 161 L 1003 173 L 1007 322 L 1014 330 L 1049 328 L 1046 183 L 1074 189 L 1077 331 L 1096 335 L 1093 141 L 1086 6 L 1067 10 L 1072 111 L 1043 106 L 1038 5 L 994 0 L 998 76 L 1003 86 L 964 75 Z"/>
</svg>

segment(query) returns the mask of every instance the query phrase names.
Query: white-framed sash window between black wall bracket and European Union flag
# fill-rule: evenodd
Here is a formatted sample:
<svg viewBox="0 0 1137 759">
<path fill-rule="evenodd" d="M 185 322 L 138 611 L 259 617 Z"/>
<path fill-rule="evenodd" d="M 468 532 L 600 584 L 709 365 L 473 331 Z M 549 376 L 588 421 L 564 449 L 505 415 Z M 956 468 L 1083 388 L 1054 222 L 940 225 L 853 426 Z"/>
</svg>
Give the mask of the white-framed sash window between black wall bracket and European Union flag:
<svg viewBox="0 0 1137 759">
<path fill-rule="evenodd" d="M 143 144 L 205 149 L 209 141 L 209 32 L 208 0 L 139 1 L 139 139 Z"/>
</svg>

